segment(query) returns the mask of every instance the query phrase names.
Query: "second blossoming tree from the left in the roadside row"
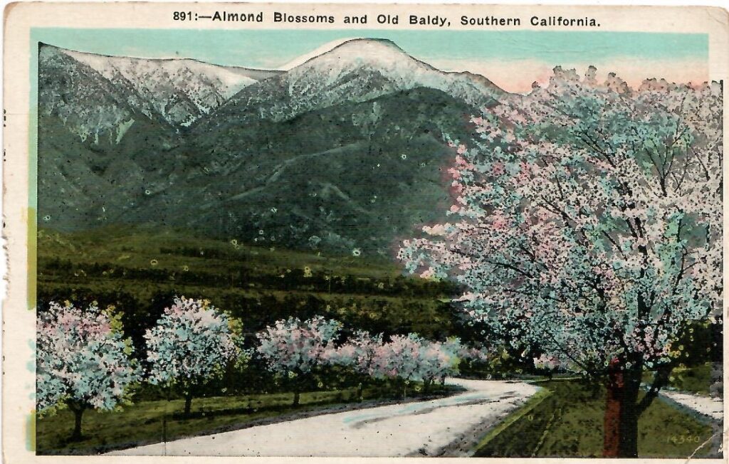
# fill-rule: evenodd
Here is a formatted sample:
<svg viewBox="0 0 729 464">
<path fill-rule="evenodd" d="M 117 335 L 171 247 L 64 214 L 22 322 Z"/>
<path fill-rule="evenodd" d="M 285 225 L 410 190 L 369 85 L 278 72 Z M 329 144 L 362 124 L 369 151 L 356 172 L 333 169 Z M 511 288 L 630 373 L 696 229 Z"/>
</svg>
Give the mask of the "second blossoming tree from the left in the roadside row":
<svg viewBox="0 0 729 464">
<path fill-rule="evenodd" d="M 174 385 L 184 394 L 184 414 L 190 415 L 196 388 L 219 377 L 241 350 L 240 324 L 207 300 L 175 298 L 171 307 L 144 334 L 149 382 Z"/>
</svg>

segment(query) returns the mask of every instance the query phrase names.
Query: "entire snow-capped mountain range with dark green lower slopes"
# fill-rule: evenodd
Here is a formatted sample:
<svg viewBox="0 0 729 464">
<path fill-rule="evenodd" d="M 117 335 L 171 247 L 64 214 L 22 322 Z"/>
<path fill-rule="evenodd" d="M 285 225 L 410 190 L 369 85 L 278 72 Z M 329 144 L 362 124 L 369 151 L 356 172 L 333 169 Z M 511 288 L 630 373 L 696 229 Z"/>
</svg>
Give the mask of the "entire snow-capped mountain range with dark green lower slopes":
<svg viewBox="0 0 729 464">
<path fill-rule="evenodd" d="M 445 213 L 443 134 L 504 91 L 386 40 L 330 45 L 279 71 L 43 46 L 41 225 L 386 253 Z"/>
</svg>

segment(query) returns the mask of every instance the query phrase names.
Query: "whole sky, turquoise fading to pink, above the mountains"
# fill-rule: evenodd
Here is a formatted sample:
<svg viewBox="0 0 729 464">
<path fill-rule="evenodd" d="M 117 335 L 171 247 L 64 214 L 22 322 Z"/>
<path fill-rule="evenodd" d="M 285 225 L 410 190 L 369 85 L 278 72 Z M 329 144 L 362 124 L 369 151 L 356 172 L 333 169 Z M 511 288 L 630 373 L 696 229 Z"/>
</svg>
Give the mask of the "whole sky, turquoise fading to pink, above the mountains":
<svg viewBox="0 0 729 464">
<path fill-rule="evenodd" d="M 546 82 L 554 66 L 615 72 L 629 84 L 647 77 L 672 82 L 709 79 L 709 36 L 602 31 L 182 30 L 69 29 L 31 31 L 58 47 L 140 58 L 195 58 L 226 66 L 282 68 L 324 44 L 391 39 L 443 71 L 482 74 L 510 92 Z"/>
</svg>

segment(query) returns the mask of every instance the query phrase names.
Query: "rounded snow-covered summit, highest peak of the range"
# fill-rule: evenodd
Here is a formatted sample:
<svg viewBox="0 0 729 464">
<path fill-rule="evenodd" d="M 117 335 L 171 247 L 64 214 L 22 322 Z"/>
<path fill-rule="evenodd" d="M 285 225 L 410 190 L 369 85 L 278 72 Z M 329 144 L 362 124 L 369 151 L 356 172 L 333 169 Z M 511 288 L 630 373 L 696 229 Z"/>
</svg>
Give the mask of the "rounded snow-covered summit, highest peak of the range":
<svg viewBox="0 0 729 464">
<path fill-rule="evenodd" d="M 249 113 L 247 117 L 281 121 L 343 101 L 367 101 L 418 87 L 442 90 L 476 107 L 504 94 L 483 76 L 440 71 L 389 40 L 351 39 L 284 74 L 246 87 L 206 122 L 227 122 L 241 111 Z"/>
</svg>

